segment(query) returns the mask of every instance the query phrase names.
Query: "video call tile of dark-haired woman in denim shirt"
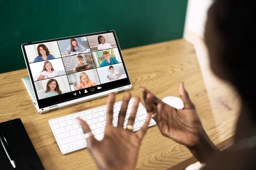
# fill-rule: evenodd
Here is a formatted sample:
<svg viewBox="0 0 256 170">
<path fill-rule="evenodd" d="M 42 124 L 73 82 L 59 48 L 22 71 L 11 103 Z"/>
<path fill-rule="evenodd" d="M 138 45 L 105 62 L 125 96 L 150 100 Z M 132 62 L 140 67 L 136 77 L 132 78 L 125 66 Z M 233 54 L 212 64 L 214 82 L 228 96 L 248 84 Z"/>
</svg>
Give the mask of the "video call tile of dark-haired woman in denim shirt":
<svg viewBox="0 0 256 170">
<path fill-rule="evenodd" d="M 58 44 L 56 41 L 44 42 L 34 45 L 26 45 L 25 49 L 29 63 L 40 62 L 61 57 Z"/>
</svg>

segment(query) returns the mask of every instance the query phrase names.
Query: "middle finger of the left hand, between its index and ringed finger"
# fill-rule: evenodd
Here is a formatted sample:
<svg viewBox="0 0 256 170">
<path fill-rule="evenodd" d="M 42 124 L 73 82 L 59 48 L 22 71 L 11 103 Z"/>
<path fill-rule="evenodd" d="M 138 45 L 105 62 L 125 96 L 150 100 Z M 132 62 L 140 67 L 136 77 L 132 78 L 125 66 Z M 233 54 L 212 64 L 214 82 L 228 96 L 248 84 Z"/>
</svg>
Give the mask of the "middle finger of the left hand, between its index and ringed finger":
<svg viewBox="0 0 256 170">
<path fill-rule="evenodd" d="M 127 112 L 127 107 L 128 107 L 130 99 L 131 99 L 131 93 L 125 93 L 125 96 L 124 96 L 123 102 L 122 102 L 122 107 L 121 107 L 121 110 L 118 115 L 117 126 L 119 126 L 119 127 L 123 127 L 123 125 L 124 125 L 125 115 Z"/>
</svg>

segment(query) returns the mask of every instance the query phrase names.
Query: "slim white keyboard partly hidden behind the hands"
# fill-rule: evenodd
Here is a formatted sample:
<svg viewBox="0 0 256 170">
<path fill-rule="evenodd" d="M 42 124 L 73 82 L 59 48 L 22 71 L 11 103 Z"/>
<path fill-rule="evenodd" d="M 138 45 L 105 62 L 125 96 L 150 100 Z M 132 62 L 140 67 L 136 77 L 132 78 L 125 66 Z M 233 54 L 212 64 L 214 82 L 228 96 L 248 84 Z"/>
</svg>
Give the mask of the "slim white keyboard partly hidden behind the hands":
<svg viewBox="0 0 256 170">
<path fill-rule="evenodd" d="M 127 126 L 133 102 L 134 98 L 130 99 L 127 108 L 127 114 L 125 116 L 124 128 Z M 115 127 L 117 126 L 118 114 L 121 109 L 121 105 L 122 101 L 114 103 L 113 126 Z M 49 125 L 52 129 L 52 133 L 61 150 L 61 153 L 67 154 L 87 147 L 87 142 L 84 138 L 84 132 L 81 126 L 74 121 L 74 119 L 78 117 L 87 122 L 87 124 L 90 126 L 90 129 L 92 130 L 94 137 L 98 141 L 101 141 L 104 137 L 106 126 L 106 111 L 107 105 L 66 116 L 61 116 L 55 119 L 50 119 Z M 140 130 L 145 122 L 147 115 L 148 114 L 146 109 L 140 102 L 134 122 L 134 132 Z M 156 122 L 151 118 L 148 127 L 154 125 L 156 125 Z"/>
</svg>

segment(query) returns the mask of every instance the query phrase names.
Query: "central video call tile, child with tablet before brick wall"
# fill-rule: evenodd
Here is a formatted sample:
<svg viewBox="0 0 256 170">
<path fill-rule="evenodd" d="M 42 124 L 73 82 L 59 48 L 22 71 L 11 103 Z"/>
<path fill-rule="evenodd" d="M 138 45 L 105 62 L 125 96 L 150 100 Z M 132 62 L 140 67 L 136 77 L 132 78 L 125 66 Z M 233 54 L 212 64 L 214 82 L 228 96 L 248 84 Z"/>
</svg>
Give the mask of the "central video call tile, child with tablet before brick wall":
<svg viewBox="0 0 256 170">
<path fill-rule="evenodd" d="M 62 60 L 67 74 L 96 68 L 91 53 L 63 57 Z"/>
</svg>

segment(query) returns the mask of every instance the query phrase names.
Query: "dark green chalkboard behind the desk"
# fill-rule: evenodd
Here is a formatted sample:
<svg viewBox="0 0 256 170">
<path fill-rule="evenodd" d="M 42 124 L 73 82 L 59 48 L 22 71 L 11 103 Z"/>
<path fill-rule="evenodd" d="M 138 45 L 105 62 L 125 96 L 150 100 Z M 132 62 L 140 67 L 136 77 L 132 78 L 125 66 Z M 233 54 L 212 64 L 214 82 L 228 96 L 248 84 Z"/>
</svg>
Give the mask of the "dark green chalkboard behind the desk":
<svg viewBox="0 0 256 170">
<path fill-rule="evenodd" d="M 26 68 L 21 44 L 115 30 L 122 49 L 182 38 L 187 0 L 0 0 L 0 73 Z"/>
</svg>

